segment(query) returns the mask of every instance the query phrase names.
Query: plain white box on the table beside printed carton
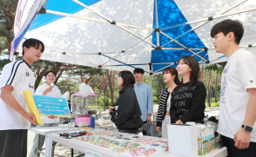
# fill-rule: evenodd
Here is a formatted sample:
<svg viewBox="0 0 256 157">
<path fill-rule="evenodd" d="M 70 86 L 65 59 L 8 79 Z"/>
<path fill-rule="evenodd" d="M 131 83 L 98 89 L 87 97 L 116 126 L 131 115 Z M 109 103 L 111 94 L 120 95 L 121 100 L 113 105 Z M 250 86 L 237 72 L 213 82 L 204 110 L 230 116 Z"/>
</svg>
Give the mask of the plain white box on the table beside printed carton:
<svg viewBox="0 0 256 157">
<path fill-rule="evenodd" d="M 186 124 L 167 125 L 169 154 L 198 156 L 198 127 Z"/>
</svg>

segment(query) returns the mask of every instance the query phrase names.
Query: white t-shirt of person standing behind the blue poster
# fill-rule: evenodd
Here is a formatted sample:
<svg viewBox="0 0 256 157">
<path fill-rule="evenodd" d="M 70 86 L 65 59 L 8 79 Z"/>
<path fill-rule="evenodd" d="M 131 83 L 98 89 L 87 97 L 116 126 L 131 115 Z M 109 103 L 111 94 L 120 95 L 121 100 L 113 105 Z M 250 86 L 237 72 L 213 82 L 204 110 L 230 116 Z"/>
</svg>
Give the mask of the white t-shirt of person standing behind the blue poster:
<svg viewBox="0 0 256 157">
<path fill-rule="evenodd" d="M 36 90 L 35 95 L 43 95 L 44 90 L 48 88 L 49 86 L 47 83 L 44 83 L 43 85 L 39 86 Z M 54 85 L 54 88 L 51 89 L 51 92 L 47 93 L 45 96 L 52 96 L 52 97 L 61 97 L 60 90 L 57 88 L 57 86 Z M 59 123 L 59 117 L 55 119 L 48 118 L 47 116 L 40 116 L 43 124 L 45 123 Z"/>
</svg>

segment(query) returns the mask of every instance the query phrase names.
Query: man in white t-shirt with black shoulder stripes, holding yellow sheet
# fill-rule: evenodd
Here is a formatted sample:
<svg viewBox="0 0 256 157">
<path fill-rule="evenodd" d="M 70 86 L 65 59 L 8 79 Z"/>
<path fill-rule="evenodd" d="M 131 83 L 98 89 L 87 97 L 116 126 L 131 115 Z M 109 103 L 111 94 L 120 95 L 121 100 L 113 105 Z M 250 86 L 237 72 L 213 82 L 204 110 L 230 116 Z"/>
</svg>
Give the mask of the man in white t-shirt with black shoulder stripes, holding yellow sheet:
<svg viewBox="0 0 256 157">
<path fill-rule="evenodd" d="M 35 77 L 30 66 L 37 62 L 44 52 L 44 43 L 27 39 L 23 43 L 23 58 L 3 67 L 0 82 L 0 157 L 25 157 L 27 155 L 27 134 L 30 114 L 24 101 L 24 90 L 34 94 Z"/>
</svg>

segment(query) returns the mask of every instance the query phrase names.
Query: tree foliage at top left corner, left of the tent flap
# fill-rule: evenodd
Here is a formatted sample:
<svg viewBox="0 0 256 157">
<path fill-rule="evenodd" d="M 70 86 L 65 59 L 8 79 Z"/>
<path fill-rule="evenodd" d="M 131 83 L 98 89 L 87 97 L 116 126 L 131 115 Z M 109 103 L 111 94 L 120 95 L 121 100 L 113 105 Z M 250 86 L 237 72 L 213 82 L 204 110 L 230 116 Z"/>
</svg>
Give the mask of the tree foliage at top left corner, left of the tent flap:
<svg viewBox="0 0 256 157">
<path fill-rule="evenodd" d="M 0 55 L 4 49 L 10 52 L 11 41 L 14 38 L 13 24 L 18 0 L 0 1 Z"/>
</svg>

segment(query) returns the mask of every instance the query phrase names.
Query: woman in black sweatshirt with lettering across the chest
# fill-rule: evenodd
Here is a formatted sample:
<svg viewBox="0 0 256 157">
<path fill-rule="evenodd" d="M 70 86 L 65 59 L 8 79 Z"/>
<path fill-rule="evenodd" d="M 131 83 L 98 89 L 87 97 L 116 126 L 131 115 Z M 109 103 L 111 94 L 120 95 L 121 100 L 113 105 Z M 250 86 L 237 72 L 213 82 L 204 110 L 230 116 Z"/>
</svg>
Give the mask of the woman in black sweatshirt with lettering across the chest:
<svg viewBox="0 0 256 157">
<path fill-rule="evenodd" d="M 199 62 L 192 56 L 179 59 L 177 70 L 182 81 L 173 89 L 171 102 L 172 123 L 187 121 L 204 123 L 206 88 L 199 82 Z"/>
</svg>

